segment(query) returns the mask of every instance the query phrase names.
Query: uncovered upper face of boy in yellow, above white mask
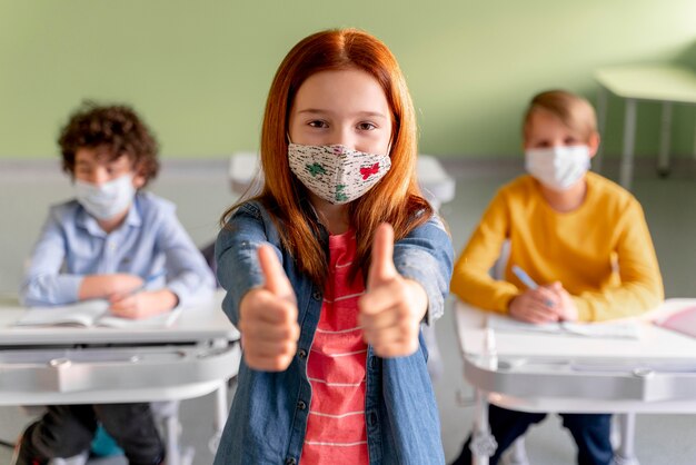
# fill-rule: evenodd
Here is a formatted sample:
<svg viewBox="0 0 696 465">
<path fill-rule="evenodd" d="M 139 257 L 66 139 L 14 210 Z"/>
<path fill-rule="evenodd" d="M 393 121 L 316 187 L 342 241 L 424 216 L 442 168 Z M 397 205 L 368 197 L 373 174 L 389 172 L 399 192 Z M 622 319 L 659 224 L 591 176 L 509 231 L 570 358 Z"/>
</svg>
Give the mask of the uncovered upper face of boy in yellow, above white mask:
<svg viewBox="0 0 696 465">
<path fill-rule="evenodd" d="M 587 146 L 589 156 L 594 157 L 599 147 L 599 136 L 595 132 L 586 137 L 568 128 L 550 111 L 537 109 L 529 115 L 525 128 L 525 150 L 551 147 Z"/>
</svg>

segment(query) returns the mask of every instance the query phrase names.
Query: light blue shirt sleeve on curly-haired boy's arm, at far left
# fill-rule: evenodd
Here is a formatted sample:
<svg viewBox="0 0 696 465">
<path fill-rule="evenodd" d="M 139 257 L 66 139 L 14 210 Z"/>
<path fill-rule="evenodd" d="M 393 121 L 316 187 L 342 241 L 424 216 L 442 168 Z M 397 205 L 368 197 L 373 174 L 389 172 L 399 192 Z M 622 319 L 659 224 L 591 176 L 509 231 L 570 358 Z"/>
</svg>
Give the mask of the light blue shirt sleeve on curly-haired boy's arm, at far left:
<svg viewBox="0 0 696 465">
<path fill-rule="evenodd" d="M 79 299 L 82 276 L 61 274 L 67 245 L 54 209 L 41 229 L 20 289 L 26 306 L 63 305 Z"/>
</svg>

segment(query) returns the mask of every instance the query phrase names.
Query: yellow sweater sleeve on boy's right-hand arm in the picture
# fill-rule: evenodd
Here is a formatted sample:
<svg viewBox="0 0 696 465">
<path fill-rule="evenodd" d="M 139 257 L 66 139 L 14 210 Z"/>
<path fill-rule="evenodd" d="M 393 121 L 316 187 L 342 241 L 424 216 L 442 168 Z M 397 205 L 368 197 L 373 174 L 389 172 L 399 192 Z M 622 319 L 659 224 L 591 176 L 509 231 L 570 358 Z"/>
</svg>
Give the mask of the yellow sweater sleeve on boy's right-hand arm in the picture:
<svg viewBox="0 0 696 465">
<path fill-rule="evenodd" d="M 618 222 L 618 271 L 622 284 L 604 291 L 574 296 L 581 321 L 601 321 L 639 315 L 664 299 L 657 256 L 643 208 L 633 200 Z"/>
</svg>

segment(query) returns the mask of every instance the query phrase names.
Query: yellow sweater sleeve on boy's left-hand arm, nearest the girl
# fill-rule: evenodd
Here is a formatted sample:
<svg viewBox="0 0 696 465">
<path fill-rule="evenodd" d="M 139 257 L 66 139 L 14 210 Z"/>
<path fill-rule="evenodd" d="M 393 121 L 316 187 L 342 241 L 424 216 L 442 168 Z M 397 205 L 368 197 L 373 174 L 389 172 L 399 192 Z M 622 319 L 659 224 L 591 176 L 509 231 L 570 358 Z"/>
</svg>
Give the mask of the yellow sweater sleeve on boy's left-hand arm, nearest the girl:
<svg viewBox="0 0 696 465">
<path fill-rule="evenodd" d="M 498 192 L 455 265 L 451 291 L 459 298 L 479 308 L 508 311 L 519 289 L 511 283 L 495 280 L 489 271 L 509 237 L 509 228 L 508 204 Z"/>
</svg>

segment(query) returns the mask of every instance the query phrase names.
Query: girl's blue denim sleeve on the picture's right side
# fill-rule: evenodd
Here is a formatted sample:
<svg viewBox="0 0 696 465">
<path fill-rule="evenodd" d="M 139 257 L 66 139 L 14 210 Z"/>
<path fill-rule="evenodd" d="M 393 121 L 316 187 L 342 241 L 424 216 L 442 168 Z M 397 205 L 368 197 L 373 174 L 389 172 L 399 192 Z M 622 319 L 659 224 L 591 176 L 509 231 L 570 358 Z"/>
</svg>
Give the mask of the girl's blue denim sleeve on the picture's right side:
<svg viewBox="0 0 696 465">
<path fill-rule="evenodd" d="M 453 261 L 451 238 L 437 216 L 394 244 L 394 265 L 397 271 L 425 290 L 428 324 L 437 320 L 445 310 Z M 417 294 L 418 289 L 415 295 Z"/>
</svg>

